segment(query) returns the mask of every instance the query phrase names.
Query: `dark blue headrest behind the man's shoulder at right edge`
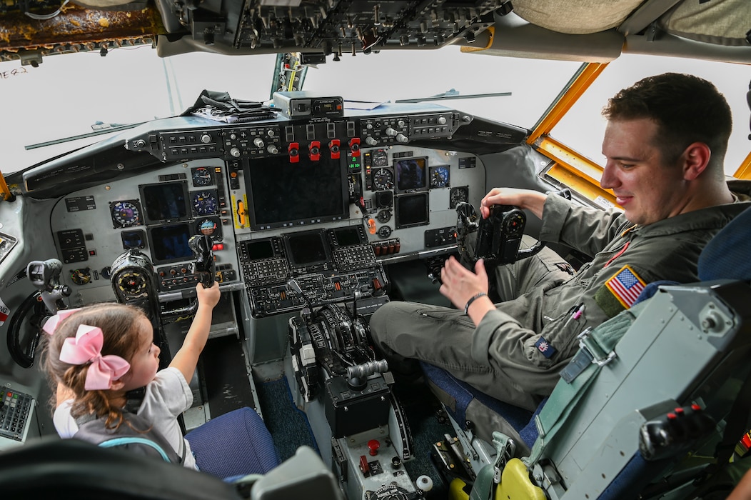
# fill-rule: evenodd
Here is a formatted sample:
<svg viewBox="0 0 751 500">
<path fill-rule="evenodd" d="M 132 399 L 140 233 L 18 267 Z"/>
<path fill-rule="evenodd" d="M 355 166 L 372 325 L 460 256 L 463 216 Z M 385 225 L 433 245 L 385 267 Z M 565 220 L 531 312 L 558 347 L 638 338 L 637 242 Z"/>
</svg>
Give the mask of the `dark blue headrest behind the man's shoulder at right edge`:
<svg viewBox="0 0 751 500">
<path fill-rule="evenodd" d="M 701 251 L 699 280 L 751 281 L 751 208 L 722 228 Z"/>
</svg>

